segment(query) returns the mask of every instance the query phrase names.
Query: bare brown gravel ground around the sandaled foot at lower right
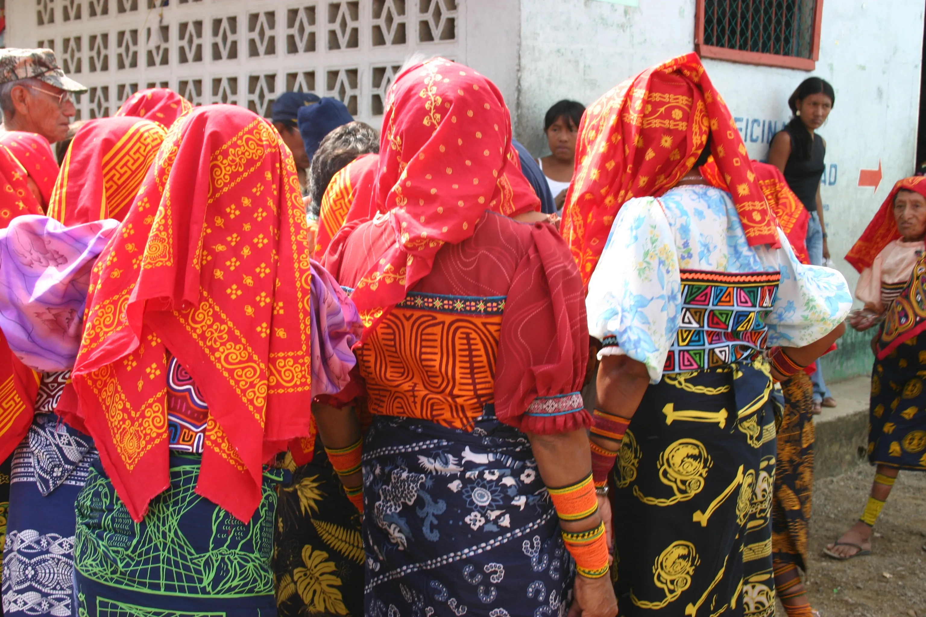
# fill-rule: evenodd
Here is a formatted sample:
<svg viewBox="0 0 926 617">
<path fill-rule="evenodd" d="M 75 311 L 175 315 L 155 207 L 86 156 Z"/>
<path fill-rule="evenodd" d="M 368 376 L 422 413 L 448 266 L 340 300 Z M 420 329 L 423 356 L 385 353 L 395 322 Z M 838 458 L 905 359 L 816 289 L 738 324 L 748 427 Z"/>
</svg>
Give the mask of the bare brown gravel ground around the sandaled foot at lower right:
<svg viewBox="0 0 926 617">
<path fill-rule="evenodd" d="M 926 474 L 901 472 L 875 525 L 871 555 L 822 553 L 865 507 L 874 467 L 814 485 L 807 588 L 822 617 L 926 617 Z M 784 616 L 779 607 L 778 614 Z"/>
</svg>

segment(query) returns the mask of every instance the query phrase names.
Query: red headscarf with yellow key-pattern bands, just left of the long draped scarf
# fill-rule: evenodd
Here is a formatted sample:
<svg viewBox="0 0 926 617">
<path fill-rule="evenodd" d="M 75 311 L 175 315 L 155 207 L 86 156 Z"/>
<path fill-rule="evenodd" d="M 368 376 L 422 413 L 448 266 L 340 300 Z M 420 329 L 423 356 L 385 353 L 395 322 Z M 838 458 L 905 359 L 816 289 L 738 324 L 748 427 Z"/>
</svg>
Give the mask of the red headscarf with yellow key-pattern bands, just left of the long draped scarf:
<svg viewBox="0 0 926 617">
<path fill-rule="evenodd" d="M 61 163 L 48 216 L 65 225 L 121 220 L 166 134 L 138 117 L 101 117 L 84 124 Z"/>
</svg>

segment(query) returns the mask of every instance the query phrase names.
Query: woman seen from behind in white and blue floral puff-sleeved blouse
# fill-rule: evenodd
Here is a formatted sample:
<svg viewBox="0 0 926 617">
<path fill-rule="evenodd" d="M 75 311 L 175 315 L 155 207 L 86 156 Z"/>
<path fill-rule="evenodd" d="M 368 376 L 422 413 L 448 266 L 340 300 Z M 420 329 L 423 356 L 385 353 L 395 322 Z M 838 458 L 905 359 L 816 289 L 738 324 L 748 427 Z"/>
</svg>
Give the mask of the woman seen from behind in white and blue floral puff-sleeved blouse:
<svg viewBox="0 0 926 617">
<path fill-rule="evenodd" d="M 845 279 L 797 260 L 694 54 L 606 93 L 579 133 L 564 236 L 602 344 L 592 464 L 617 493 L 620 613 L 770 614 L 771 379 L 840 335 Z"/>
</svg>

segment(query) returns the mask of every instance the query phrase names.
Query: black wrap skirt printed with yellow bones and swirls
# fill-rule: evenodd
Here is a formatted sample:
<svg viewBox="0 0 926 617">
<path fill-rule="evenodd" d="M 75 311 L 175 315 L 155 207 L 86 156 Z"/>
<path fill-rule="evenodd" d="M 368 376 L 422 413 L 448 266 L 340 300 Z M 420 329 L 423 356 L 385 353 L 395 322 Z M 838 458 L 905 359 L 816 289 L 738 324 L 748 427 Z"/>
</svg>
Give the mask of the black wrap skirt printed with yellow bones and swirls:
<svg viewBox="0 0 926 617">
<path fill-rule="evenodd" d="M 621 615 L 774 615 L 770 390 L 761 361 L 646 390 L 613 478 Z"/>
</svg>

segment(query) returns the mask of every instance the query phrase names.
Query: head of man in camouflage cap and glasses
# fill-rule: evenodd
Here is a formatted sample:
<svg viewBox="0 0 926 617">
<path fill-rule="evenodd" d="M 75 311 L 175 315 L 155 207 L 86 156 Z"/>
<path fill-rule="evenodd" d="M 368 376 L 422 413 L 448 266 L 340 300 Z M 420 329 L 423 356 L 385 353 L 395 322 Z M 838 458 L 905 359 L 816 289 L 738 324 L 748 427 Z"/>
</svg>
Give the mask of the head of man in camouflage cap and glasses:
<svg viewBox="0 0 926 617">
<path fill-rule="evenodd" d="M 0 109 L 5 130 L 24 130 L 60 142 L 77 108 L 71 93 L 87 89 L 58 67 L 50 49 L 0 50 Z"/>
</svg>

